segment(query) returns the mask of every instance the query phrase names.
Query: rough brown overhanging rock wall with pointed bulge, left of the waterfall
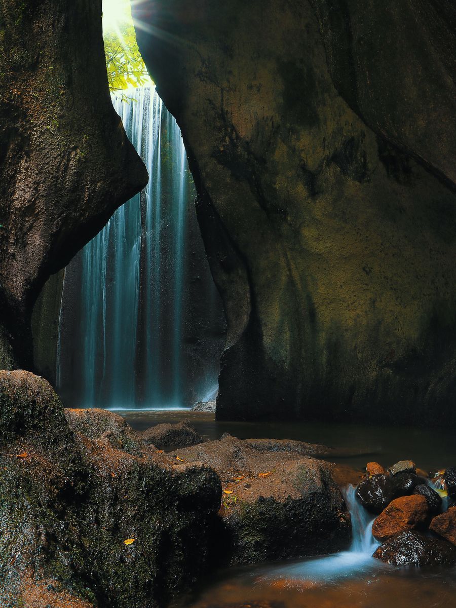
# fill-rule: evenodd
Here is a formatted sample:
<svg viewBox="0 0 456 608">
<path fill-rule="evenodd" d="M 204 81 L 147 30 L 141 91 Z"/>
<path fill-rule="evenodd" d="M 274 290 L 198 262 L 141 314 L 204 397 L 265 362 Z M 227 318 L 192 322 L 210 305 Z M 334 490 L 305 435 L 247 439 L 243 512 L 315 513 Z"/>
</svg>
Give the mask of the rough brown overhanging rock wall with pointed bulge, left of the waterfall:
<svg viewBox="0 0 456 608">
<path fill-rule="evenodd" d="M 2 2 L 0 125 L 0 368 L 31 367 L 47 277 L 147 183 L 109 98 L 102 0 Z"/>
</svg>

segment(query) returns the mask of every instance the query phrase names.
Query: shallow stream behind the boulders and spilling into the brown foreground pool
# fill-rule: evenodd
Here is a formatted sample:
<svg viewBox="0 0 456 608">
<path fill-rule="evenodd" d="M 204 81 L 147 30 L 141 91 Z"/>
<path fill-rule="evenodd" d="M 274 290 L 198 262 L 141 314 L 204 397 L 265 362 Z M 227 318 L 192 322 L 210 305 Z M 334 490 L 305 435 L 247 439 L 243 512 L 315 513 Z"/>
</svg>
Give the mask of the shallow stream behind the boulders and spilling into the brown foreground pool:
<svg viewBox="0 0 456 608">
<path fill-rule="evenodd" d="M 268 437 L 320 443 L 339 451 L 337 460 L 364 469 L 370 460 L 392 465 L 411 458 L 427 471 L 456 465 L 454 434 L 437 429 L 328 423 L 227 423 L 201 412 L 123 412 L 138 430 L 190 420 L 208 439 L 229 432 L 239 438 Z M 395 568 L 371 557 L 370 516 L 346 496 L 353 542 L 348 551 L 228 568 L 212 577 L 179 608 L 456 608 L 456 568 Z"/>
</svg>

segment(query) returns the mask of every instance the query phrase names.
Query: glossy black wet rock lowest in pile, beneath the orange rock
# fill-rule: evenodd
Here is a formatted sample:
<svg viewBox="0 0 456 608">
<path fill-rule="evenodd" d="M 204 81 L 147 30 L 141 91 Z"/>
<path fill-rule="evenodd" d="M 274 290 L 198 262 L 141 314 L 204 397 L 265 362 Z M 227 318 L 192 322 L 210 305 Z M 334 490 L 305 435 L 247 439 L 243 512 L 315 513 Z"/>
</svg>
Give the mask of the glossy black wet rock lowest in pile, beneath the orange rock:
<svg viewBox="0 0 456 608">
<path fill-rule="evenodd" d="M 453 565 L 456 563 L 456 548 L 443 539 L 407 530 L 384 542 L 373 556 L 396 566 Z"/>
</svg>

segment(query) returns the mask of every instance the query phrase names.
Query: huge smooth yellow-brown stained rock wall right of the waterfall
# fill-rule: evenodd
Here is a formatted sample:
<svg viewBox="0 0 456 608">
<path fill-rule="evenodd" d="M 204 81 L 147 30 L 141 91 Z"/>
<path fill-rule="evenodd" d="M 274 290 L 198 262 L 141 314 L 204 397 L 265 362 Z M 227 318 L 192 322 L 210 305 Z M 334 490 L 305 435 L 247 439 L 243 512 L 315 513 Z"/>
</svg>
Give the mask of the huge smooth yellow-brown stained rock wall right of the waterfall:
<svg viewBox="0 0 456 608">
<path fill-rule="evenodd" d="M 373 4 L 372 21 L 354 0 L 133 7 L 157 32 L 139 47 L 181 126 L 224 300 L 219 419 L 455 421 L 453 39 L 427 19 L 439 0 L 411 21 L 410 3 Z M 370 91 L 364 52 L 376 61 L 385 32 L 401 46 Z"/>
</svg>

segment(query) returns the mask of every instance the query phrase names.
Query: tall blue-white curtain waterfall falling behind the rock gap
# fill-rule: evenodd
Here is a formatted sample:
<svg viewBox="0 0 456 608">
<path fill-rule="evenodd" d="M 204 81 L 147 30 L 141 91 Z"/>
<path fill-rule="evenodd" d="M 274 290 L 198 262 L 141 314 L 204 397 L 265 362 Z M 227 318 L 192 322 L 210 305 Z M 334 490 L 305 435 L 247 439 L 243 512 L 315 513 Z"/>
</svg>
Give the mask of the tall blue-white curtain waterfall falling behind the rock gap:
<svg viewBox="0 0 456 608">
<path fill-rule="evenodd" d="M 181 407 L 190 404 L 185 391 L 192 374 L 185 361 L 195 358 L 195 352 L 188 345 L 201 342 L 199 336 L 187 335 L 197 331 L 190 326 L 198 311 L 184 309 L 184 299 L 195 302 L 198 297 L 192 278 L 203 302 L 214 301 L 215 286 L 205 259 L 204 268 L 194 268 L 204 257 L 201 243 L 201 259 L 188 260 L 188 249 L 193 255 L 198 249 L 190 243 L 195 235 L 188 227 L 196 223 L 193 181 L 176 120 L 153 87 L 127 94 L 129 100 L 113 95 L 112 102 L 145 162 L 149 183 L 114 213 L 67 268 L 58 385 L 64 390 L 65 376 L 71 376 L 68 385 L 80 383 L 78 397 L 66 400 L 83 407 Z M 218 312 L 199 314 L 209 318 Z M 65 360 L 70 340 L 73 348 L 79 340 L 78 361 Z M 205 378 L 194 373 L 191 380 L 196 401 L 198 391 L 207 392 L 215 383 L 216 370 Z"/>
</svg>

